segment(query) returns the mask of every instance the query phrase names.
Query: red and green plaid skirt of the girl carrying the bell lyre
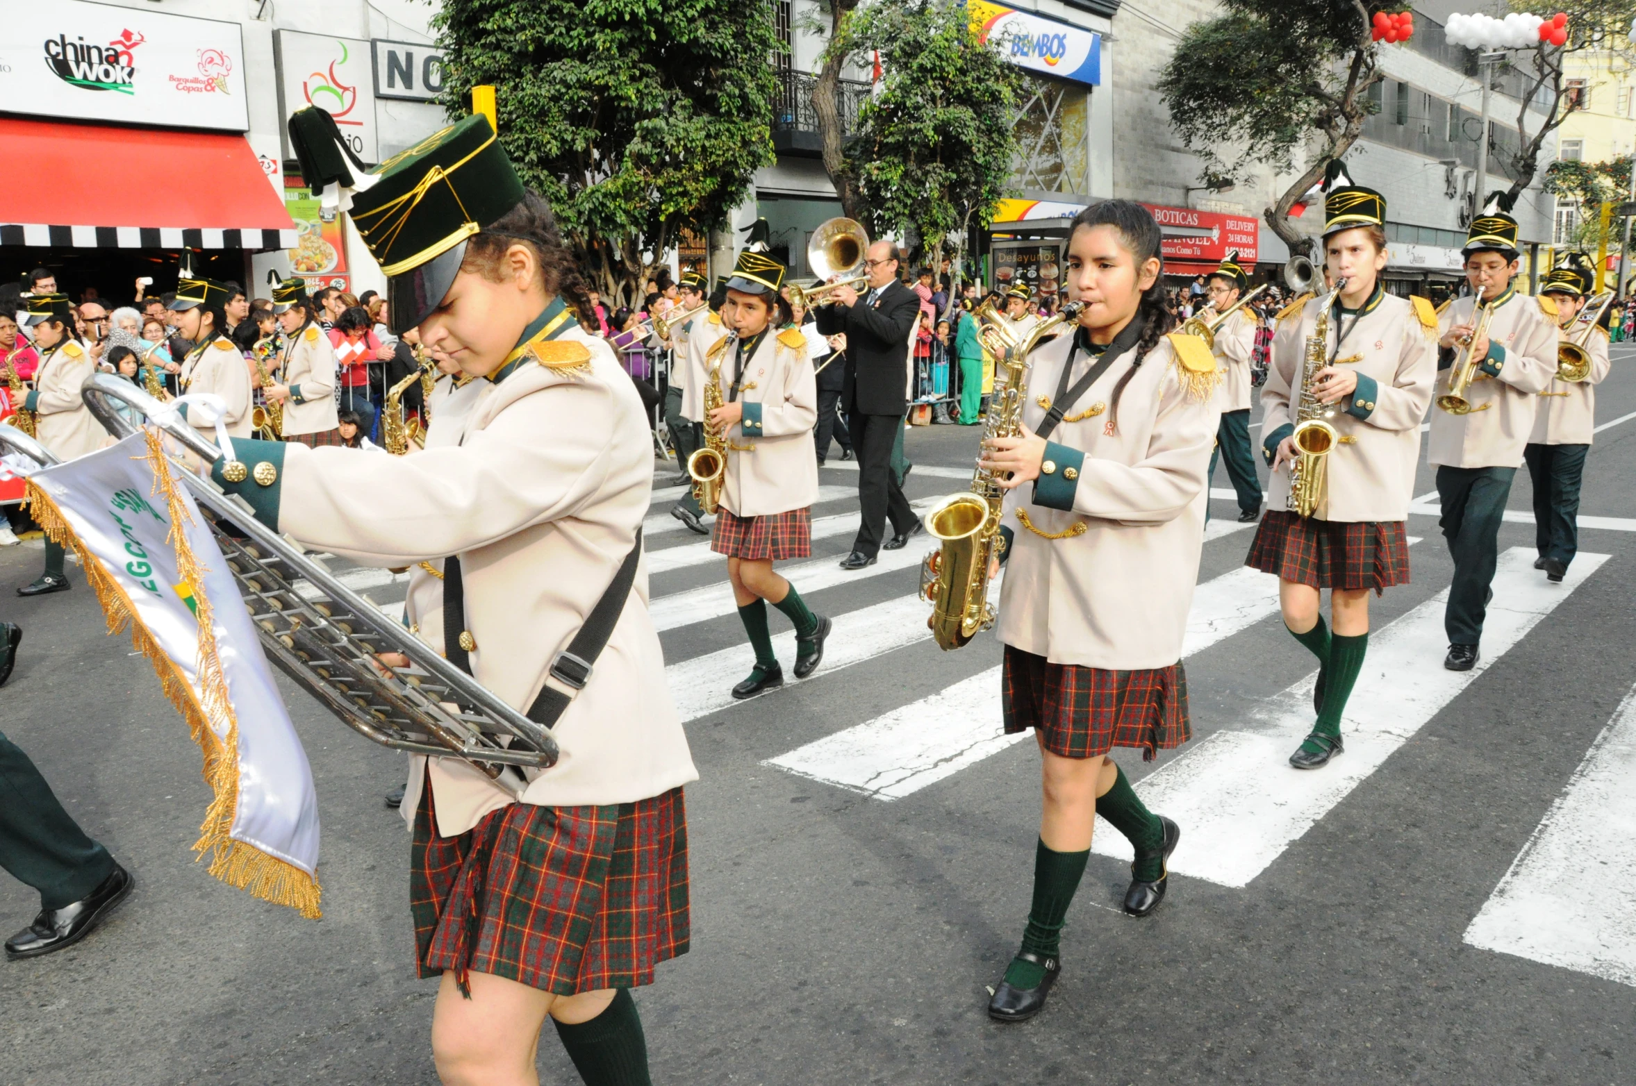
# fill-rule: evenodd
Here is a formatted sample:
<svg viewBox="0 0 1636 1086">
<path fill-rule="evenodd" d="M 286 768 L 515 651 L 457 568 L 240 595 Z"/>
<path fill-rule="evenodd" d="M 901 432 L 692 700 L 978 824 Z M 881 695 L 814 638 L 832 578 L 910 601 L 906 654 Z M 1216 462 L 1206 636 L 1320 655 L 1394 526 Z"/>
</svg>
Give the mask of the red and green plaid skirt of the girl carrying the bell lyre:
<svg viewBox="0 0 1636 1086">
<path fill-rule="evenodd" d="M 419 975 L 470 970 L 560 996 L 653 983 L 687 954 L 682 790 L 609 806 L 491 811 L 438 837 L 430 783 L 414 821 L 409 880 Z"/>
</svg>

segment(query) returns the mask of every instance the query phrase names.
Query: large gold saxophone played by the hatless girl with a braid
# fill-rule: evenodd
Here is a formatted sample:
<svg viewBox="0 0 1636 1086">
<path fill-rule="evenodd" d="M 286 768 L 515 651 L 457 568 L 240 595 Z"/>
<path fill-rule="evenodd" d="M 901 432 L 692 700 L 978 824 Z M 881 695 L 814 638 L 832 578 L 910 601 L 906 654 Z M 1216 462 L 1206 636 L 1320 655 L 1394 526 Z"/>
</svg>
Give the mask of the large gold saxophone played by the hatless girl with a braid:
<svg viewBox="0 0 1636 1086">
<path fill-rule="evenodd" d="M 988 321 L 982 339 L 995 347 L 995 394 L 988 401 L 983 443 L 996 437 L 1022 433 L 1022 397 L 1027 381 L 1029 353 L 1057 330 L 1076 321 L 1085 303 L 1068 303 L 1018 342 L 1011 329 L 1000 325 L 993 304 L 977 316 Z M 919 595 L 931 604 L 929 626 L 937 644 L 957 649 L 980 631 L 995 625 L 995 608 L 988 602 L 988 568 L 1000 556 L 1000 514 L 1006 491 L 998 476 L 980 463 L 972 473 L 972 489 L 951 494 L 926 512 L 926 532 L 942 546 L 921 563 Z"/>
</svg>

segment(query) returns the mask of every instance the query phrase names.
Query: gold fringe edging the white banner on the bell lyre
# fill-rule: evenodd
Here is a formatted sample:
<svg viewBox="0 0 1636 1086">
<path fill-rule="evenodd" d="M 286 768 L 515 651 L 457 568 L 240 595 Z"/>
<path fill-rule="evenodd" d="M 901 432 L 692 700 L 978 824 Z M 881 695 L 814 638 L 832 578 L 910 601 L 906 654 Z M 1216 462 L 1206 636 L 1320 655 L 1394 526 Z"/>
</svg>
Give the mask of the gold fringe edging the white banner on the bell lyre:
<svg viewBox="0 0 1636 1086">
<path fill-rule="evenodd" d="M 25 500 L 34 517 L 34 523 L 54 543 L 72 550 L 79 556 L 80 568 L 85 571 L 85 582 L 97 594 L 97 602 L 101 604 L 103 615 L 108 620 L 108 633 L 118 635 L 129 630 L 131 646 L 154 666 L 154 674 L 159 677 L 165 697 L 182 713 L 182 718 L 188 723 L 188 733 L 204 756 L 204 783 L 209 785 L 214 798 L 204 811 L 204 824 L 200 826 L 200 839 L 193 842 L 193 850 L 200 854 L 200 859 L 204 859 L 208 852 L 213 854 L 209 873 L 229 886 L 249 890 L 252 896 L 272 901 L 273 904 L 290 906 L 308 919 L 319 919 L 322 916 L 319 909 L 322 888 L 316 877 L 229 836 L 232 819 L 239 810 L 239 721 L 232 713 L 227 697 L 227 679 L 221 669 L 221 657 L 216 654 L 216 631 L 211 625 L 209 602 L 204 599 L 203 571 L 193 556 L 193 548 L 188 546 L 187 535 L 182 532 L 182 523 L 191 520 L 191 517 L 187 514 L 187 505 L 182 504 L 182 496 L 170 478 L 170 464 L 162 450 L 159 450 L 157 438 L 149 433 L 147 442 L 149 455 L 146 460 L 151 466 L 159 464 L 154 469 L 154 492 L 164 492 L 170 510 L 172 540 L 167 541 L 175 543 L 178 571 L 188 586 L 193 587 L 198 605 L 198 675 L 200 687 L 204 692 L 204 703 L 200 703 L 182 669 L 165 654 L 141 617 L 137 617 L 131 597 L 126 595 L 119 582 L 108 574 L 101 561 L 74 533 L 74 528 L 56 502 L 34 482 L 26 484 Z M 216 729 L 211 728 L 206 707 L 214 708 L 226 718 L 226 736 L 218 736 Z"/>
</svg>

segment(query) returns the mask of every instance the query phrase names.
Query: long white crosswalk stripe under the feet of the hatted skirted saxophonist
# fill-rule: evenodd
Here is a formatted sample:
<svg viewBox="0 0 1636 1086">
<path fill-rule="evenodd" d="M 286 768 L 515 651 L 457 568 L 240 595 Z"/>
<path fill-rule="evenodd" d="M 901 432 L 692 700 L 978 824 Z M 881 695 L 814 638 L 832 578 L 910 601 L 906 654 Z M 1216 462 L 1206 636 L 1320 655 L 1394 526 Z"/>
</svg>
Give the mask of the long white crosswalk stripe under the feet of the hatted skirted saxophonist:
<svg viewBox="0 0 1636 1086">
<path fill-rule="evenodd" d="M 1170 870 L 1224 886 L 1248 885 L 1607 558 L 1579 554 L 1556 586 L 1533 569 L 1533 548 L 1500 554 L 1482 659 L 1467 672 L 1445 671 L 1440 662 L 1446 589 L 1373 633 L 1342 723 L 1346 751 L 1320 770 L 1302 772 L 1286 762 L 1312 729 L 1314 671 L 1271 698 L 1253 729 L 1217 731 L 1144 779 L 1137 785 L 1144 801 L 1183 826 Z M 1117 832 L 1096 834 L 1093 849 L 1130 855 Z"/>
</svg>

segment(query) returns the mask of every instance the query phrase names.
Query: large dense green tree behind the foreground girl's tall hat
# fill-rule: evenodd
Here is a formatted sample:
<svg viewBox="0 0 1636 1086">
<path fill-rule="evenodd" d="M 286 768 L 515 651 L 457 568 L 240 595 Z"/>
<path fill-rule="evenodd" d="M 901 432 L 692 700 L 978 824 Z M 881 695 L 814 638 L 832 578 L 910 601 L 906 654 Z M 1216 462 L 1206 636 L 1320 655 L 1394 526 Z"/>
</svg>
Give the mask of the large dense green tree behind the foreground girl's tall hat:
<svg viewBox="0 0 1636 1086">
<path fill-rule="evenodd" d="M 506 154 L 615 304 L 774 160 L 766 0 L 443 0 L 432 25 L 445 108 L 496 87 Z"/>
</svg>

